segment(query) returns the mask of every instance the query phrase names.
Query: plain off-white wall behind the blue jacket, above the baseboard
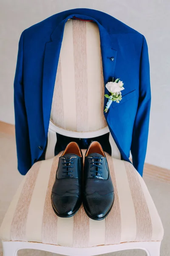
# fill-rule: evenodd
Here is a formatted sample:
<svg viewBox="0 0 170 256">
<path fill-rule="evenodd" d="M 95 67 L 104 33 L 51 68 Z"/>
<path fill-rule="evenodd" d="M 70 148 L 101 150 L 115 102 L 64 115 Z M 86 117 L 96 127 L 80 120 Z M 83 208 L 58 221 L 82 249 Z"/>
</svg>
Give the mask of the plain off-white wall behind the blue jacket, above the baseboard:
<svg viewBox="0 0 170 256">
<path fill-rule="evenodd" d="M 146 162 L 170 169 L 169 0 L 0 0 L 0 120 L 14 124 L 13 81 L 21 32 L 73 8 L 106 12 L 146 37 L 152 90 Z"/>
</svg>

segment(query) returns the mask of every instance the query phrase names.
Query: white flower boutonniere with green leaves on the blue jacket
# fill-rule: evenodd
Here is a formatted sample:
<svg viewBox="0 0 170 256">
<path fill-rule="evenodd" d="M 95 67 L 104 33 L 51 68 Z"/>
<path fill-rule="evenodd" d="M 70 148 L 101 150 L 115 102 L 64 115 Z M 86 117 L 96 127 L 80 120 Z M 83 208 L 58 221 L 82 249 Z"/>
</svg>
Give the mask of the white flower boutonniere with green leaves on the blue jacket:
<svg viewBox="0 0 170 256">
<path fill-rule="evenodd" d="M 124 83 L 122 81 L 120 81 L 120 79 L 116 79 L 113 82 L 108 82 L 106 84 L 106 88 L 108 89 L 108 91 L 111 93 L 111 95 L 109 96 L 108 94 L 105 94 L 105 97 L 108 98 L 108 102 L 106 104 L 105 110 L 104 112 L 108 112 L 108 109 L 110 108 L 111 104 L 113 101 L 119 103 L 122 100 L 122 93 L 121 91 L 124 90 L 125 88 L 123 87 Z"/>
</svg>

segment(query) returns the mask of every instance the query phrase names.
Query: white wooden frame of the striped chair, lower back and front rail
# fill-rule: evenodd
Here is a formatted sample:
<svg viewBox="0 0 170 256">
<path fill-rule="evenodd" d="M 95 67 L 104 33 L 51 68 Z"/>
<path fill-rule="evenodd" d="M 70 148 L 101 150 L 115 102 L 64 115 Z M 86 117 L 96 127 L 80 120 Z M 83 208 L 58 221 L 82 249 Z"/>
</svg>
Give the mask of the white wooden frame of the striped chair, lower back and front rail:
<svg viewBox="0 0 170 256">
<path fill-rule="evenodd" d="M 108 127 L 105 127 L 98 131 L 91 132 L 76 132 L 68 131 L 55 126 L 51 121 L 48 129 L 48 144 L 45 154 L 45 159 L 54 157 L 54 148 L 57 142 L 58 134 L 62 134 L 68 137 L 74 138 L 93 138 L 109 132 Z M 120 152 L 114 142 L 111 134 L 109 136 L 109 142 L 111 144 L 112 157 L 120 159 Z M 17 251 L 21 249 L 35 249 L 44 250 L 52 253 L 59 253 L 68 256 L 93 256 L 104 253 L 111 253 L 121 250 L 130 249 L 142 249 L 145 250 L 147 256 L 160 256 L 160 245 L 161 241 L 145 241 L 145 242 L 125 242 L 120 244 L 112 245 L 100 245 L 86 248 L 75 248 L 75 247 L 63 247 L 54 244 L 43 244 L 37 242 L 26 242 L 26 241 L 2 241 L 3 244 L 3 256 L 17 256 Z"/>
</svg>

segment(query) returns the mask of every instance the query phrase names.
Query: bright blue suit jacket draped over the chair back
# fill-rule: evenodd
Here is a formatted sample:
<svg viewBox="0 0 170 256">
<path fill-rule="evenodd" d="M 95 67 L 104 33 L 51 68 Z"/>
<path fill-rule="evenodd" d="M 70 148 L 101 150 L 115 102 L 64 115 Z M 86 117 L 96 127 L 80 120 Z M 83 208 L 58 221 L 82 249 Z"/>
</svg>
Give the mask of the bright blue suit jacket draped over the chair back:
<svg viewBox="0 0 170 256">
<path fill-rule="evenodd" d="M 18 170 L 25 175 L 45 148 L 64 25 L 74 17 L 99 26 L 105 84 L 113 76 L 125 83 L 122 101 L 113 102 L 105 118 L 122 159 L 129 161 L 131 150 L 133 165 L 142 175 L 151 99 L 147 42 L 121 21 L 92 9 L 60 12 L 20 36 L 14 78 Z"/>
</svg>

